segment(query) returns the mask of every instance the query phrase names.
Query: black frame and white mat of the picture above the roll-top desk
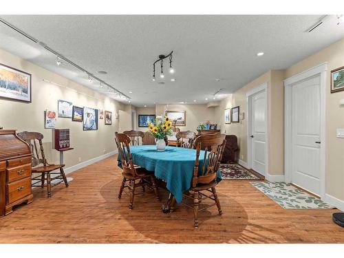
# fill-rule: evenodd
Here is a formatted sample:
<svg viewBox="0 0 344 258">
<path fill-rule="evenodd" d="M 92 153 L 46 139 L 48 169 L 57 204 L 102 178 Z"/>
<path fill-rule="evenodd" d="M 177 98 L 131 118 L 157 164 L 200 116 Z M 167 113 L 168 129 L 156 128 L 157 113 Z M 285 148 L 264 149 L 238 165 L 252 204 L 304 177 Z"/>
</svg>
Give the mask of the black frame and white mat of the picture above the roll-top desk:
<svg viewBox="0 0 344 258">
<path fill-rule="evenodd" d="M 8 72 L 13 72 L 14 74 L 21 74 L 23 76 L 28 76 L 28 84 L 27 84 L 27 98 L 15 98 L 14 96 L 11 97 L 11 95 L 15 95 L 14 93 L 11 94 L 10 90 L 8 90 L 8 80 L 6 79 L 6 74 L 3 74 L 2 70 L 7 70 Z M 0 63 L 0 89 L 5 88 L 6 85 L 6 90 L 5 92 L 0 91 L 0 98 L 5 99 L 5 100 L 16 100 L 20 101 L 23 103 L 31 103 L 32 102 L 32 75 L 29 74 L 28 72 L 21 71 L 20 69 L 16 69 L 14 67 L 10 67 L 8 65 L 4 65 L 3 63 Z M 15 87 L 15 86 L 13 86 Z M 6 92 L 8 91 L 8 92 Z"/>
</svg>

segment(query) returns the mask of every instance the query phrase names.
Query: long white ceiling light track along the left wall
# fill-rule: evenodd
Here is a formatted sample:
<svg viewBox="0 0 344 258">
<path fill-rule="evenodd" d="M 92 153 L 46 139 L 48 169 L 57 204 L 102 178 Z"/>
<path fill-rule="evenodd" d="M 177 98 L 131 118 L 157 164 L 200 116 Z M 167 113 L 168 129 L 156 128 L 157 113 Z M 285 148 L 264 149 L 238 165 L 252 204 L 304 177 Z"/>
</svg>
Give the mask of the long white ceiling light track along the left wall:
<svg viewBox="0 0 344 258">
<path fill-rule="evenodd" d="M 56 60 L 57 58 L 62 59 L 63 61 L 65 61 L 66 63 L 69 63 L 69 65 L 74 66 L 76 69 L 79 69 L 81 72 L 85 72 L 85 74 L 87 74 L 87 76 L 89 78 L 92 78 L 94 80 L 98 80 L 98 82 L 101 85 L 107 85 L 107 87 L 114 89 L 114 92 L 117 92 L 118 95 L 120 96 L 124 96 L 127 100 L 130 100 L 129 96 L 123 94 L 122 92 L 120 92 L 118 89 L 116 89 L 115 87 L 109 85 L 109 83 L 106 83 L 104 80 L 101 80 L 100 78 L 98 78 L 97 76 L 94 76 L 94 74 L 88 72 L 86 69 L 84 69 L 83 67 L 80 67 L 79 65 L 77 65 L 76 63 L 74 63 L 73 61 L 70 61 L 68 58 L 66 58 L 65 56 L 63 56 L 62 54 L 58 53 L 57 51 L 53 50 L 51 47 L 49 47 L 48 45 L 46 45 L 45 43 L 35 39 L 34 37 L 30 36 L 29 34 L 23 32 L 23 30 L 20 30 L 19 28 L 15 27 L 14 25 L 8 23 L 7 21 L 5 21 L 4 19 L 0 18 L 1 23 L 7 25 L 9 28 L 12 28 L 12 30 L 15 30 L 16 32 L 19 32 L 19 34 L 25 36 L 26 38 L 30 39 L 30 41 L 33 41 L 34 43 L 37 43 L 39 45 L 41 45 L 42 47 L 44 47 L 45 50 L 51 52 L 52 54 L 54 54 L 56 56 Z M 171 52 L 172 54 L 172 52 Z"/>
</svg>

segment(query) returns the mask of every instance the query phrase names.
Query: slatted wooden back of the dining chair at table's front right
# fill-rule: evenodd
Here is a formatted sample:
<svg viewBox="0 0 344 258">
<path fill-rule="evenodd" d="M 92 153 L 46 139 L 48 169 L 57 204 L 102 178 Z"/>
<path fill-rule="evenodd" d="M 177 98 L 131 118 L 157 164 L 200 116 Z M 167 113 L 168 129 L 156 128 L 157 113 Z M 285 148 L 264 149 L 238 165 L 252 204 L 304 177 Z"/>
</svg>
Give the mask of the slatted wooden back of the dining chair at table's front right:
<svg viewBox="0 0 344 258">
<path fill-rule="evenodd" d="M 226 145 L 225 137 L 225 134 L 208 134 L 196 138 L 196 160 L 192 181 L 193 187 L 196 187 L 197 184 L 210 184 L 216 180 L 219 163 Z M 204 149 L 204 162 L 201 168 L 202 173 L 199 174 L 201 149 Z"/>
</svg>

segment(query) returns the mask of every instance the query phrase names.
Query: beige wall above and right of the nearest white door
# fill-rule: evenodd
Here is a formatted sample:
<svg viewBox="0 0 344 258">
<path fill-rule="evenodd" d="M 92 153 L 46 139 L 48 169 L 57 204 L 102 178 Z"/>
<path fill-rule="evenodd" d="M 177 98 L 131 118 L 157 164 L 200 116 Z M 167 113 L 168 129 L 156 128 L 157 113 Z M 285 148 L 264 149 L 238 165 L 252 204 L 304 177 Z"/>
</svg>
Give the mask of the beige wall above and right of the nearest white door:
<svg viewBox="0 0 344 258">
<path fill-rule="evenodd" d="M 326 188 L 325 192 L 344 200 L 344 139 L 336 138 L 336 129 L 344 128 L 344 107 L 339 100 L 344 92 L 330 93 L 331 70 L 344 66 L 344 39 L 305 58 L 286 69 L 289 78 L 316 65 L 327 62 L 326 78 Z"/>
</svg>

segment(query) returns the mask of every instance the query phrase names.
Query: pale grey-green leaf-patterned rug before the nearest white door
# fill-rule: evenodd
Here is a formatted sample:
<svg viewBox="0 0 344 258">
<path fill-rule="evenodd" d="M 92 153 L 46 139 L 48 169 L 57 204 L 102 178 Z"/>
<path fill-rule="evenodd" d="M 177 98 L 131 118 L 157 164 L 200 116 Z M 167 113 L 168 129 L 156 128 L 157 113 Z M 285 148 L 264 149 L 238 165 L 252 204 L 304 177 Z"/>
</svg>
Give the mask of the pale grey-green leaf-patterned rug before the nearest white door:
<svg viewBox="0 0 344 258">
<path fill-rule="evenodd" d="M 261 193 L 274 200 L 283 208 L 334 208 L 317 197 L 284 182 L 250 182 Z"/>
</svg>

